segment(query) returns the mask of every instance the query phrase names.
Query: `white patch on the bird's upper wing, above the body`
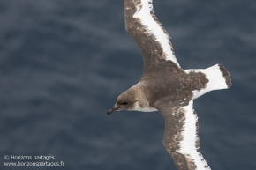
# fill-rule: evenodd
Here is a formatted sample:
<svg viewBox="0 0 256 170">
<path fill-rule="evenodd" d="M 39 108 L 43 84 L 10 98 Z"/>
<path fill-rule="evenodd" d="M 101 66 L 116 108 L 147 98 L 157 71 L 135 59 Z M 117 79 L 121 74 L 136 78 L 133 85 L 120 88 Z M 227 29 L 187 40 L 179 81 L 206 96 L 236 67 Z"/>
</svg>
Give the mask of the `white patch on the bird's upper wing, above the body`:
<svg viewBox="0 0 256 170">
<path fill-rule="evenodd" d="M 154 34 L 156 41 L 160 43 L 163 53 L 166 55 L 166 60 L 171 60 L 180 67 L 172 51 L 169 35 L 164 33 L 162 27 L 154 20 L 150 12 L 154 12 L 152 0 L 141 0 L 141 4 L 137 5 L 137 11 L 134 13 L 133 18 L 139 18 L 142 25 L 147 27 L 148 33 Z"/>
</svg>

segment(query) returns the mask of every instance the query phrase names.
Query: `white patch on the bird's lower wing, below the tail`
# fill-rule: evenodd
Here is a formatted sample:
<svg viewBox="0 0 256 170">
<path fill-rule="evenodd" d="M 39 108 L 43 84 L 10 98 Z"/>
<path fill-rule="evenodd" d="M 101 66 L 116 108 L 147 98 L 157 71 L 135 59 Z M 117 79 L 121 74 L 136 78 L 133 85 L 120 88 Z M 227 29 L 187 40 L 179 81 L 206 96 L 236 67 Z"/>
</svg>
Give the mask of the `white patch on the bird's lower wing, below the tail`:
<svg viewBox="0 0 256 170">
<path fill-rule="evenodd" d="M 183 140 L 180 144 L 180 150 L 177 152 L 184 154 L 186 157 L 193 159 L 197 170 L 211 168 L 207 165 L 207 161 L 203 158 L 200 148 L 196 148 L 196 142 L 199 141 L 197 136 L 197 120 L 198 116 L 194 114 L 193 100 L 189 102 L 188 106 L 180 109 L 185 110 L 184 131 L 182 132 Z"/>
</svg>

